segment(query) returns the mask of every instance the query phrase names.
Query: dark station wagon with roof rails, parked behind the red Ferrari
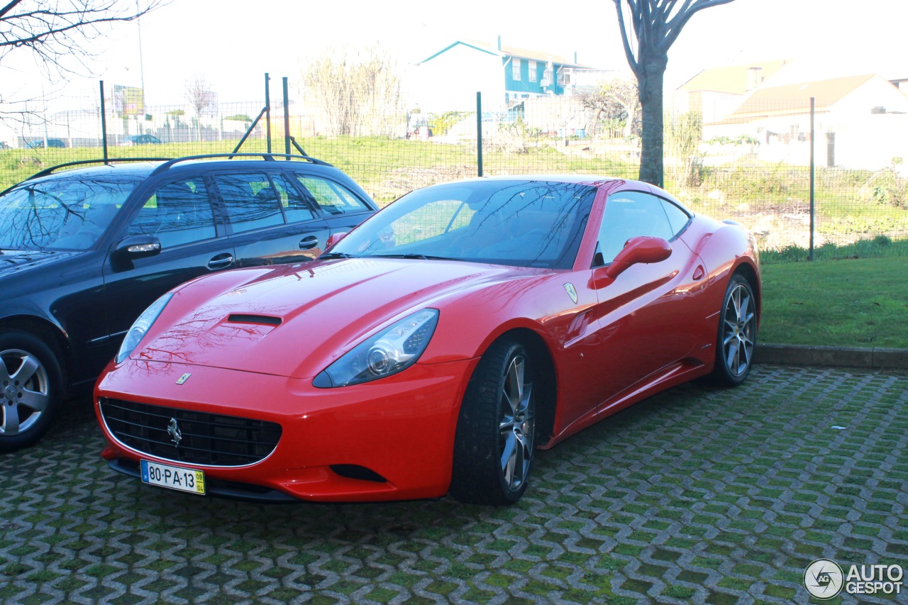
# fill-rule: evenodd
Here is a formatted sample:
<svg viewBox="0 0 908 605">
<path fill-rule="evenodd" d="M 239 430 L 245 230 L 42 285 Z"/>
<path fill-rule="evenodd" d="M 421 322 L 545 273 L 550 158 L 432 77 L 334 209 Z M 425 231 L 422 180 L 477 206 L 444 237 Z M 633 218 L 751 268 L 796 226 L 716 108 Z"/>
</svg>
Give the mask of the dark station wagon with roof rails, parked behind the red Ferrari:
<svg viewBox="0 0 908 605">
<path fill-rule="evenodd" d="M 75 162 L 0 193 L 0 451 L 89 392 L 163 293 L 311 261 L 375 210 L 331 164 L 281 154 Z"/>
</svg>

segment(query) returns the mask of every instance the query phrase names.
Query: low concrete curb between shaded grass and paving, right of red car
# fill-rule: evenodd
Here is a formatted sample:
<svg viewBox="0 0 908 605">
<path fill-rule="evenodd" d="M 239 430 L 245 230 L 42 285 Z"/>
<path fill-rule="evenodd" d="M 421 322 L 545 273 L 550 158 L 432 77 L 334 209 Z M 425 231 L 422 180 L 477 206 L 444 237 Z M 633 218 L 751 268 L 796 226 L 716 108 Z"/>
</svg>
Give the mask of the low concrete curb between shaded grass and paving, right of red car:
<svg viewBox="0 0 908 605">
<path fill-rule="evenodd" d="M 758 343 L 754 362 L 785 365 L 844 366 L 874 370 L 908 370 L 908 349 Z"/>
</svg>

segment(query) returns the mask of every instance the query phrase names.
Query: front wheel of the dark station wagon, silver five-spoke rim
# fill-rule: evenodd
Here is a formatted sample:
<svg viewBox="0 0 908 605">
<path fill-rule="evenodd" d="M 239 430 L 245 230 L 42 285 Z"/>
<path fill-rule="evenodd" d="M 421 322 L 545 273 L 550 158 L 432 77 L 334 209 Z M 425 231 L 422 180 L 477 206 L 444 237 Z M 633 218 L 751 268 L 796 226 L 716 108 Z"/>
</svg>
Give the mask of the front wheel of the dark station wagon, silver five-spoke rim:
<svg viewBox="0 0 908 605">
<path fill-rule="evenodd" d="M 0 451 L 41 439 L 63 393 L 63 372 L 49 346 L 27 332 L 0 333 Z"/>
</svg>

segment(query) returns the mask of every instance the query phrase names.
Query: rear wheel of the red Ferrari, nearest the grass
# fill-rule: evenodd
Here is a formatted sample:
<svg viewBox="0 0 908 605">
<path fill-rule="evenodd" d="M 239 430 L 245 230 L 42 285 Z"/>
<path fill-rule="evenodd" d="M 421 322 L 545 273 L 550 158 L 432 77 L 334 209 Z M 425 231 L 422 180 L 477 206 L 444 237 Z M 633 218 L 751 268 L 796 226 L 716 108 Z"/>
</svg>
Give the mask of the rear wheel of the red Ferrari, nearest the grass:
<svg viewBox="0 0 908 605">
<path fill-rule="evenodd" d="M 756 299 L 750 283 L 739 273 L 732 275 L 722 299 L 716 336 L 716 366 L 711 382 L 737 386 L 745 382 L 754 364 L 756 346 Z"/>
</svg>

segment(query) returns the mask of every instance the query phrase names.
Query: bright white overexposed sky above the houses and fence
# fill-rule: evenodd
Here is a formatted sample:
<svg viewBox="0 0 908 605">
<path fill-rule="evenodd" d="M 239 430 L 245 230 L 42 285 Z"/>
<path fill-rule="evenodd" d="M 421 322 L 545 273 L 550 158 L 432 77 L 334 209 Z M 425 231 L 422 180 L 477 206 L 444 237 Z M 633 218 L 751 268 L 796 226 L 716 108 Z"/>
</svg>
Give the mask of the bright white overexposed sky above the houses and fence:
<svg viewBox="0 0 908 605">
<path fill-rule="evenodd" d="M 906 17 L 905 0 L 735 0 L 707 8 L 669 51 L 666 89 L 708 67 L 775 59 L 796 59 L 803 81 L 908 77 Z M 281 76 L 298 81 L 307 60 L 331 46 L 379 45 L 416 63 L 455 40 L 491 44 L 498 35 L 505 45 L 577 52 L 579 63 L 628 70 L 612 0 L 172 0 L 92 43 L 93 73 L 84 77 L 47 81 L 23 55 L 13 70 L 7 61 L 0 96 L 44 91 L 50 104 L 90 108 L 104 79 L 143 86 L 146 104 L 183 104 L 187 81 L 201 77 L 222 103 L 258 101 L 264 73 L 273 78 L 271 94 L 280 94 Z"/>
</svg>

